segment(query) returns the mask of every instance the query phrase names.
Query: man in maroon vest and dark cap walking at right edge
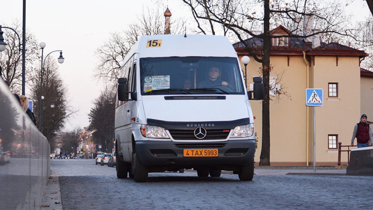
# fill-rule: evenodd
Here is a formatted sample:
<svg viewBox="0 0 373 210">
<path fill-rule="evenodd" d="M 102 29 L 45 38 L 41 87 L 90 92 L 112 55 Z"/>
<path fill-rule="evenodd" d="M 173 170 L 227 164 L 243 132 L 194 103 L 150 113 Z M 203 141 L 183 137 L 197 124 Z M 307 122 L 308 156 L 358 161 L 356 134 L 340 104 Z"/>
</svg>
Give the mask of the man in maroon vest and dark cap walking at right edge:
<svg viewBox="0 0 373 210">
<path fill-rule="evenodd" d="M 360 117 L 360 122 L 354 127 L 354 132 L 352 133 L 351 146 L 354 145 L 354 140 L 356 138 L 357 148 L 367 147 L 368 142 L 373 145 L 372 129 L 369 124 L 367 124 L 367 115 L 363 114 Z"/>
</svg>

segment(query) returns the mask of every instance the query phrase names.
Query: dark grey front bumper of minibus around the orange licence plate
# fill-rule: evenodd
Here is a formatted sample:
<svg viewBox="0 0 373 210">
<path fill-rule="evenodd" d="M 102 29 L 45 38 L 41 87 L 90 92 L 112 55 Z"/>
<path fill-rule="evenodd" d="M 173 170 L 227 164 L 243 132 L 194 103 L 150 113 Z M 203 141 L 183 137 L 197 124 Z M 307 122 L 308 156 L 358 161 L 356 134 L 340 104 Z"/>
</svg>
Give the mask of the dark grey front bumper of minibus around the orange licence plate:
<svg viewBox="0 0 373 210">
<path fill-rule="evenodd" d="M 216 142 L 136 141 L 136 153 L 148 166 L 242 166 L 253 160 L 256 142 L 240 139 Z M 217 157 L 184 157 L 184 149 L 218 149 Z"/>
</svg>

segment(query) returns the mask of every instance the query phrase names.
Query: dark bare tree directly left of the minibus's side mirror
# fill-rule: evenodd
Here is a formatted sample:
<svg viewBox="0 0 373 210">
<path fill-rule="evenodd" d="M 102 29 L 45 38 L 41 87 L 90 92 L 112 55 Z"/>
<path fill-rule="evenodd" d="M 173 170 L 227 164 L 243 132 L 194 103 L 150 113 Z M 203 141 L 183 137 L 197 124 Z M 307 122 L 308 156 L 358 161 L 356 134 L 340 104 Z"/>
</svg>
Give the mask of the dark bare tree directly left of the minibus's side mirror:
<svg viewBox="0 0 373 210">
<path fill-rule="evenodd" d="M 96 130 L 92 135 L 95 143 L 103 146 L 103 151 L 113 148 L 116 88 L 106 87 L 93 102 L 88 118 L 90 129 Z"/>
</svg>

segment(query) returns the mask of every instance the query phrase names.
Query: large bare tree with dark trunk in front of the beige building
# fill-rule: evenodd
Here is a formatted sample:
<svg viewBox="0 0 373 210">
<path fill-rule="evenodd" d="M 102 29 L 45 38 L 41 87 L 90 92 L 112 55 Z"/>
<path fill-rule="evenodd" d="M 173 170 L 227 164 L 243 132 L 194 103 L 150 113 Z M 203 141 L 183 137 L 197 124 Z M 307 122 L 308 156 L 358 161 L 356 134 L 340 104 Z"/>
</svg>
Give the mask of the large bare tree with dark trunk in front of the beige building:
<svg viewBox="0 0 373 210">
<path fill-rule="evenodd" d="M 264 99 L 262 103 L 262 148 L 261 166 L 270 165 L 270 109 L 269 109 L 269 75 L 271 38 L 295 37 L 310 39 L 317 34 L 338 34 L 353 37 L 352 30 L 343 29 L 347 24 L 338 2 L 320 3 L 317 0 L 182 0 L 191 9 L 197 27 L 202 33 L 211 31 L 214 34 L 220 26 L 223 34 L 227 30 L 235 34 L 257 62 L 262 64 Z M 271 21 L 272 19 L 272 21 Z M 307 30 L 312 20 L 317 31 Z M 286 35 L 274 35 L 270 31 L 270 23 L 291 26 Z M 262 33 L 255 33 L 261 30 Z M 245 42 L 247 37 L 261 40 L 258 46 L 250 46 Z"/>
</svg>

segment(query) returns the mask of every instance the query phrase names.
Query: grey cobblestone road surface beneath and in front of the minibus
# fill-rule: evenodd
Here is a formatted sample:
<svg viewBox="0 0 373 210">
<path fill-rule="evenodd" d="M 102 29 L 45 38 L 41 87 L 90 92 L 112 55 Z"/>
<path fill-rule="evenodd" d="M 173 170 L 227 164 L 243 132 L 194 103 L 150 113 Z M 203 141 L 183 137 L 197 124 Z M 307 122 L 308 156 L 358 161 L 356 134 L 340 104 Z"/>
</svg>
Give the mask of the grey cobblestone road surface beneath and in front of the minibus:
<svg viewBox="0 0 373 210">
<path fill-rule="evenodd" d="M 149 182 L 117 179 L 94 160 L 51 161 L 64 209 L 373 209 L 373 177 L 150 173 Z"/>
</svg>

